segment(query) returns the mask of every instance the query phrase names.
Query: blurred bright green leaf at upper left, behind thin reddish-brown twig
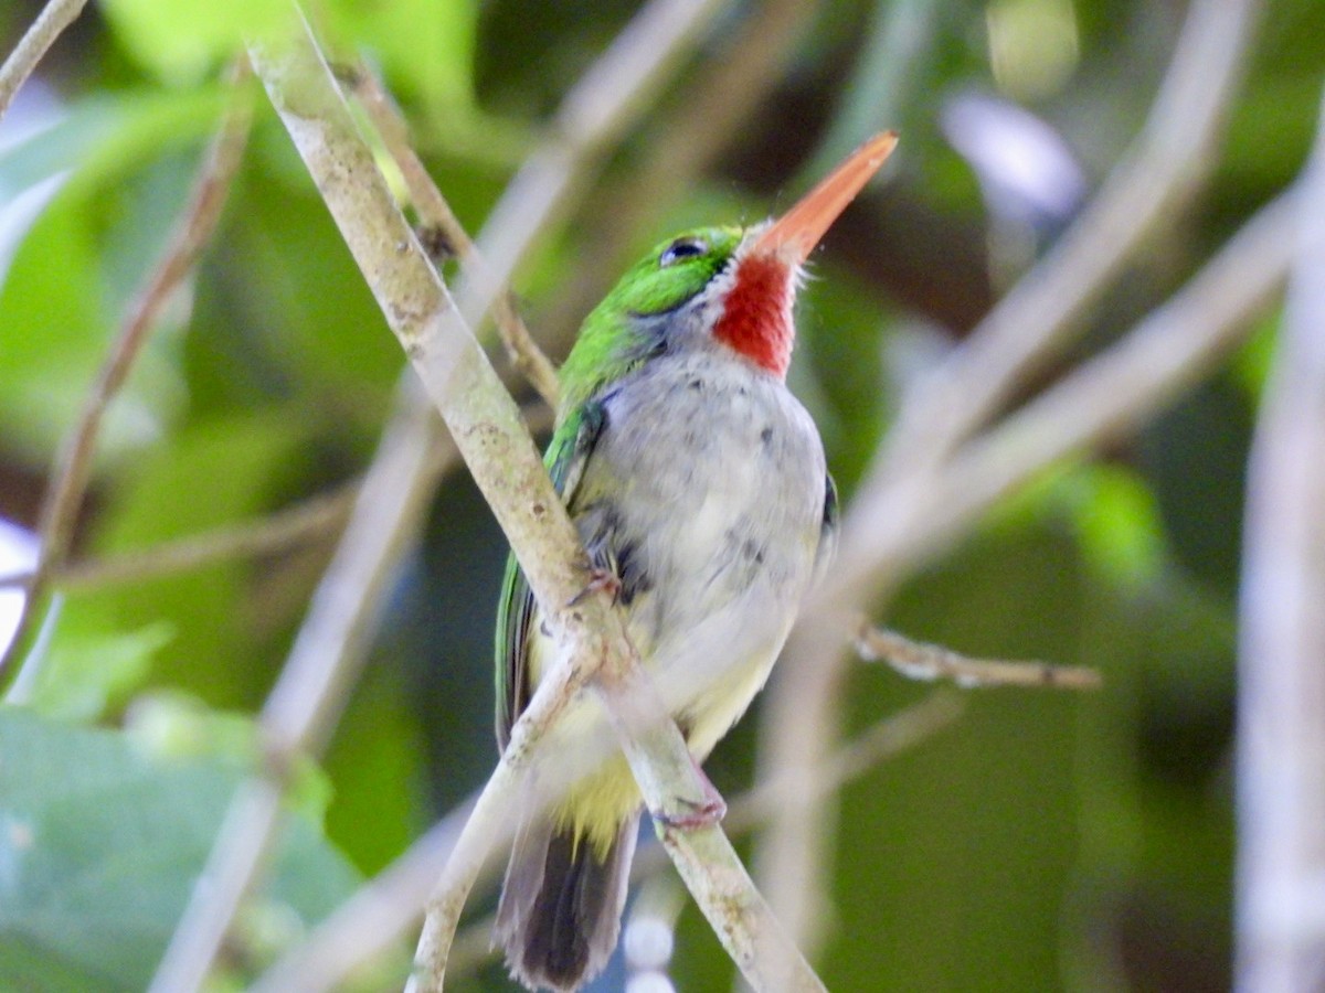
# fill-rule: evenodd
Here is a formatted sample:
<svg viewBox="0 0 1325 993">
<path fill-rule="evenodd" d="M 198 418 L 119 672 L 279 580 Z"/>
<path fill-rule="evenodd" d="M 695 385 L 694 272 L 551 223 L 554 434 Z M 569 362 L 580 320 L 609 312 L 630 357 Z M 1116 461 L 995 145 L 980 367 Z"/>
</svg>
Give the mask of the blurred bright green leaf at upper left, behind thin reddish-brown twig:
<svg viewBox="0 0 1325 993">
<path fill-rule="evenodd" d="M 184 203 L 195 166 L 180 152 L 212 126 L 219 106 L 213 93 L 90 101 L 0 156 L 0 188 L 15 191 L 72 168 L 0 287 L 0 433 L 29 461 L 45 462 L 73 424 Z M 158 334 L 107 413 L 102 455 L 155 437 L 180 397 Z"/>
</svg>

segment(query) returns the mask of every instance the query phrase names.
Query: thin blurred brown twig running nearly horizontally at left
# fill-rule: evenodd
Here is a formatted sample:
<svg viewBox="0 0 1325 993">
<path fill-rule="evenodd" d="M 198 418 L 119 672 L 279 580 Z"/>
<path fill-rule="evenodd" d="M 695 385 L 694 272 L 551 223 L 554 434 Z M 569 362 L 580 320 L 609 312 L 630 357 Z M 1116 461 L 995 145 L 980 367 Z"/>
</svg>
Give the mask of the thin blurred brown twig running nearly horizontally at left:
<svg viewBox="0 0 1325 993">
<path fill-rule="evenodd" d="M 347 483 L 258 520 L 225 524 L 105 559 L 65 563 L 50 573 L 48 583 L 64 591 L 101 589 L 189 572 L 228 559 L 280 552 L 343 527 L 356 491 L 358 482 Z M 25 569 L 0 576 L 0 589 L 30 588 L 36 575 L 34 569 Z"/>
</svg>

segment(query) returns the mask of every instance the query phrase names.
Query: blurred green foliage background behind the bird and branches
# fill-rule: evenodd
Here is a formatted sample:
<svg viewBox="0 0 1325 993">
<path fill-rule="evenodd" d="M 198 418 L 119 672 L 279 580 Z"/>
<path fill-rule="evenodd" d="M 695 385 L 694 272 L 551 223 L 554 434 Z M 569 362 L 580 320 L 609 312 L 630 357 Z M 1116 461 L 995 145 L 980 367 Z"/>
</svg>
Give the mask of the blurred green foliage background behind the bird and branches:
<svg viewBox="0 0 1325 993">
<path fill-rule="evenodd" d="M 37 9 L 0 11 L 4 50 Z M 380 69 L 470 230 L 636 9 L 310 4 L 333 50 Z M 60 438 L 186 201 L 225 106 L 223 69 L 270 12 L 261 0 L 91 5 L 0 127 L 0 518 L 17 528 L 34 527 Z M 659 237 L 772 213 L 868 132 L 898 128 L 889 181 L 828 236 L 800 307 L 792 385 L 849 500 L 898 384 L 971 330 L 1136 135 L 1185 12 L 1150 0 L 733 3 L 521 273 L 525 316 L 560 357 L 587 306 Z M 739 44 L 753 44 L 766 85 L 705 131 L 696 107 L 738 71 Z M 1325 5 L 1267 4 L 1251 53 L 1208 184 L 1059 371 L 1162 302 L 1300 168 Z M 331 493 L 362 471 L 384 422 L 399 347 L 257 97 L 220 229 L 102 432 L 80 559 Z M 678 142 L 704 151 L 666 183 L 632 185 Z M 1023 154 L 1024 175 L 996 148 Z M 1265 315 L 1224 369 L 1140 434 L 1045 474 L 908 579 L 890 625 L 977 655 L 1096 666 L 1105 688 L 970 692 L 955 726 L 845 789 L 816 963 L 829 988 L 1228 985 L 1242 477 L 1276 322 Z M 0 988 L 147 981 L 229 784 L 256 760 L 252 715 L 334 539 L 61 594 L 33 707 L 0 710 Z M 452 473 L 330 751 L 298 777 L 295 826 L 220 988 L 260 970 L 486 777 L 504 557 L 481 498 Z M 860 665 L 847 723 L 864 728 L 928 692 Z M 750 781 L 758 719 L 757 707 L 709 764 L 729 796 Z M 727 988 L 731 972 L 688 908 L 677 988 Z M 610 973 L 602 988 L 620 982 Z M 509 984 L 492 964 L 456 988 Z"/>
</svg>

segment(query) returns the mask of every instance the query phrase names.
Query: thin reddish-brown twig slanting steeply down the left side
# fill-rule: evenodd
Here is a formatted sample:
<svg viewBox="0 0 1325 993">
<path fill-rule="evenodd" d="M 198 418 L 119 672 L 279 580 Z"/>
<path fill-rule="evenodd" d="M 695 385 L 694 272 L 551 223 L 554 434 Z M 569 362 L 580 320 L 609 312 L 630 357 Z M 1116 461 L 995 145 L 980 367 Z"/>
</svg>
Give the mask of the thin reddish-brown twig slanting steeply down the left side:
<svg viewBox="0 0 1325 993">
<path fill-rule="evenodd" d="M 238 64 L 233 71 L 235 82 L 238 83 L 246 71 L 246 65 Z M 248 95 L 236 85 L 233 103 L 203 156 L 193 193 L 180 216 L 175 234 L 125 319 L 95 383 L 83 399 L 77 425 L 61 446 L 41 506 L 36 575 L 28 587 L 13 639 L 8 651 L 0 655 L 0 679 L 24 650 L 26 633 L 37 616 L 37 604 L 44 598 L 46 580 L 64 564 L 69 553 L 78 508 L 91 479 L 93 454 L 106 408 L 119 392 L 147 335 L 156 326 L 162 308 L 192 270 L 216 228 L 231 179 L 248 140 L 250 111 Z M 30 663 L 36 665 L 37 659 L 33 658 Z M 26 682 L 30 683 L 30 678 Z"/>
</svg>

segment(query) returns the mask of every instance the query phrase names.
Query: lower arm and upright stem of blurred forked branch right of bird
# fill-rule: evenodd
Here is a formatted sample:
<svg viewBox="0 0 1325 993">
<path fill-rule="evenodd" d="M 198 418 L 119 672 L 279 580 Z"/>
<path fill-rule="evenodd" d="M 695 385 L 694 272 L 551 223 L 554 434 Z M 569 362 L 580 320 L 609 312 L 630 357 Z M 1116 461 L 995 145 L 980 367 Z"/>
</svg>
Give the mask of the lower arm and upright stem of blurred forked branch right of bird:
<svg viewBox="0 0 1325 993">
<path fill-rule="evenodd" d="M 877 478 L 857 495 L 843 520 L 839 561 L 802 610 L 788 662 L 779 667 L 786 675 L 775 683 L 768 718 L 778 728 L 767 739 L 772 769 L 808 775 L 804 756 L 822 755 L 835 735 L 832 715 L 845 673 L 841 647 L 853 617 L 877 609 L 881 597 L 995 500 L 1052 462 L 1134 429 L 1227 355 L 1283 285 L 1300 209 L 1295 192 L 1263 208 L 1117 344 L 945 466 L 904 485 Z M 787 810 L 762 862 L 770 900 L 774 887 L 786 887 L 779 888 L 786 903 L 774 900 L 779 918 L 794 915 L 804 933 L 822 918 L 807 887 L 819 875 L 824 839 L 818 824 L 825 806 L 831 804 L 804 814 Z"/>
</svg>

